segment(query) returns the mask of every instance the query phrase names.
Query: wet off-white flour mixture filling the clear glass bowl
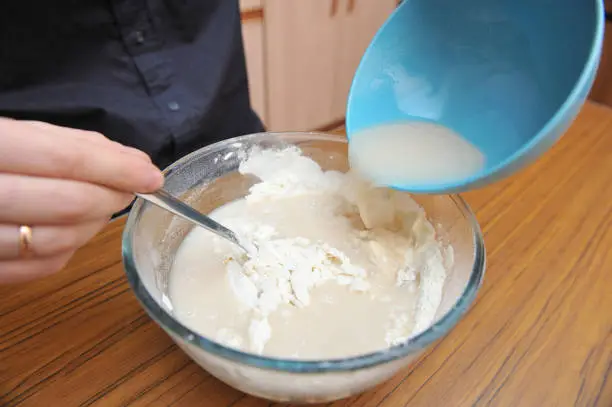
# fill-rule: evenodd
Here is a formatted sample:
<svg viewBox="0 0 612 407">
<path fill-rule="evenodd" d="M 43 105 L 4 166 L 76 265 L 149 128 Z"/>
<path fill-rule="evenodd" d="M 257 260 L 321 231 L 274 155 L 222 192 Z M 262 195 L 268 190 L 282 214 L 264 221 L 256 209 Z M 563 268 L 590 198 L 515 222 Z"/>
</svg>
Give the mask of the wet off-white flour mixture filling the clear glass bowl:
<svg viewBox="0 0 612 407">
<path fill-rule="evenodd" d="M 381 350 L 431 325 L 452 251 L 407 194 L 324 172 L 295 147 L 254 150 L 240 171 L 261 182 L 211 216 L 257 255 L 193 229 L 170 276 L 180 321 L 228 346 L 300 359 Z"/>
</svg>

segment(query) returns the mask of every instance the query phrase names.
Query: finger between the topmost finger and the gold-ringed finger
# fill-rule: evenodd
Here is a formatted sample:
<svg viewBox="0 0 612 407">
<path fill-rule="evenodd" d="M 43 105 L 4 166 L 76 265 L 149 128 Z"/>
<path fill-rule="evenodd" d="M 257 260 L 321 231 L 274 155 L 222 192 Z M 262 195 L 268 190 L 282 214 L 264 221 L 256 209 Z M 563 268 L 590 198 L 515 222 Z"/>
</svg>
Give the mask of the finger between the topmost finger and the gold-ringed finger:
<svg viewBox="0 0 612 407">
<path fill-rule="evenodd" d="M 0 223 L 66 225 L 110 217 L 133 196 L 81 181 L 0 173 Z"/>
</svg>

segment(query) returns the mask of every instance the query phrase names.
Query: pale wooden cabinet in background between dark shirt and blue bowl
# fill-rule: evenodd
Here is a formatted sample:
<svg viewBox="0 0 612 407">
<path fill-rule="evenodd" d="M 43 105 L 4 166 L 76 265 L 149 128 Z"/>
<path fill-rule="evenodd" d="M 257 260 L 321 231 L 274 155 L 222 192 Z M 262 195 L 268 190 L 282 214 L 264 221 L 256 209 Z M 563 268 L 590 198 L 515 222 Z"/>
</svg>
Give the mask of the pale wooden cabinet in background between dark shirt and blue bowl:
<svg viewBox="0 0 612 407">
<path fill-rule="evenodd" d="M 353 74 L 397 0 L 241 0 L 251 101 L 272 131 L 344 119 Z"/>
</svg>

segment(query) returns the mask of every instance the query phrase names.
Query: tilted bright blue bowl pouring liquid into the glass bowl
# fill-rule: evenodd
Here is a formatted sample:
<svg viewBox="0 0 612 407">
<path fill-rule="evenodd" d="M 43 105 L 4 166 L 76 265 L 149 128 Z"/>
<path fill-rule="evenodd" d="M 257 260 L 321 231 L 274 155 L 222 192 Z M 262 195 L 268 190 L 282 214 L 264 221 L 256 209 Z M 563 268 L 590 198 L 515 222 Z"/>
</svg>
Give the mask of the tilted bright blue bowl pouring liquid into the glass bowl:
<svg viewBox="0 0 612 407">
<path fill-rule="evenodd" d="M 534 161 L 567 130 L 595 79 L 602 0 L 405 0 L 365 52 L 346 128 L 427 121 L 480 149 L 484 169 L 415 193 L 462 192 Z"/>
</svg>

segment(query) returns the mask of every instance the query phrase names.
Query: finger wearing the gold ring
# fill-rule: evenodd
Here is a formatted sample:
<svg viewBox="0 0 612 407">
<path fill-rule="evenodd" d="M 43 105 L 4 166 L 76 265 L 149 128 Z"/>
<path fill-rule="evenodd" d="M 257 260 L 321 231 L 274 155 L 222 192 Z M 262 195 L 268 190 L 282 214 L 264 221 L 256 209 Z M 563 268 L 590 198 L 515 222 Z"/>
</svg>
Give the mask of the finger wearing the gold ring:
<svg viewBox="0 0 612 407">
<path fill-rule="evenodd" d="M 30 257 L 52 257 L 73 252 L 87 243 L 106 225 L 98 219 L 68 226 L 32 226 L 32 240 L 28 253 L 19 252 L 19 226 L 0 225 L 0 261 Z"/>
</svg>

